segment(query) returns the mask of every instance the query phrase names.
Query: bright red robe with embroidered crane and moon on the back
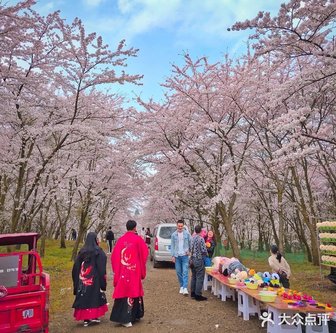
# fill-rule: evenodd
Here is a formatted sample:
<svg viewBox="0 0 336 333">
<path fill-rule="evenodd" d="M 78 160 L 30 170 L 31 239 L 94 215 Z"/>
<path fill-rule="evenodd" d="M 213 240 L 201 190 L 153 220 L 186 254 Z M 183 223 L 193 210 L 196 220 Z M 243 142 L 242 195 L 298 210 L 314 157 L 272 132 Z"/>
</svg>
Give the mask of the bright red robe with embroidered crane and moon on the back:
<svg viewBox="0 0 336 333">
<path fill-rule="evenodd" d="M 147 245 L 139 235 L 128 231 L 118 239 L 111 255 L 113 298 L 143 296 L 147 257 Z"/>
</svg>

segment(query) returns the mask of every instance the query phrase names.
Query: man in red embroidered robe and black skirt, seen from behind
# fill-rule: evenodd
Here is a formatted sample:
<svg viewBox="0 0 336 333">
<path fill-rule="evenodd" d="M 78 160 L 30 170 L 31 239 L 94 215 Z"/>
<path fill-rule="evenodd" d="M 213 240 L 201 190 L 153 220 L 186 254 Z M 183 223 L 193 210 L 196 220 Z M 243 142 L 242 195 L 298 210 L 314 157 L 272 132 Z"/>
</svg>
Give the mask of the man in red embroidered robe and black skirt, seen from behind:
<svg viewBox="0 0 336 333">
<path fill-rule="evenodd" d="M 135 234 L 135 221 L 128 220 L 126 229 L 111 255 L 115 301 L 110 320 L 130 327 L 143 317 L 141 280 L 146 277 L 148 248 L 142 238 Z"/>
</svg>

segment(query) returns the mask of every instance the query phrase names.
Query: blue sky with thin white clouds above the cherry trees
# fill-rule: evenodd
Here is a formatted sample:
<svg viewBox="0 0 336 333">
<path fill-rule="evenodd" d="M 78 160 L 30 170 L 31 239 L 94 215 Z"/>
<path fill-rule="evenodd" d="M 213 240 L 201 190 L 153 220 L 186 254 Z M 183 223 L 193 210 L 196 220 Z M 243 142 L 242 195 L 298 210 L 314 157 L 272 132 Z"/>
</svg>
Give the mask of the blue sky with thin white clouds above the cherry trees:
<svg viewBox="0 0 336 333">
<path fill-rule="evenodd" d="M 14 1 L 11 1 L 13 3 Z M 163 77 L 170 75 L 171 64 L 182 64 L 179 54 L 187 51 L 196 59 L 203 55 L 213 63 L 246 51 L 251 32 L 228 32 L 238 20 L 253 18 L 259 10 L 277 14 L 283 1 L 273 0 L 41 0 L 34 9 L 40 14 L 60 10 L 70 23 L 79 17 L 86 32 L 101 35 L 104 43 L 115 50 L 126 40 L 128 47 L 138 48 L 138 57 L 129 60 L 129 73 L 143 74 L 143 86 L 114 85 L 130 98 L 141 92 L 144 100 L 163 97 Z M 133 103 L 132 103 L 133 104 Z"/>
</svg>

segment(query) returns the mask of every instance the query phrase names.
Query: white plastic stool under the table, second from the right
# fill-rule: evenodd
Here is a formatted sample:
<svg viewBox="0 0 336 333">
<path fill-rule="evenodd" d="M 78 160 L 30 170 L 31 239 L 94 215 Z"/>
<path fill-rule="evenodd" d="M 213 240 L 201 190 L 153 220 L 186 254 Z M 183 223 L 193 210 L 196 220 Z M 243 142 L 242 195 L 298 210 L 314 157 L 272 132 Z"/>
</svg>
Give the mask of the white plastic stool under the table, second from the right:
<svg viewBox="0 0 336 333">
<path fill-rule="evenodd" d="M 302 333 L 301 323 L 296 319 L 297 326 L 293 324 L 293 317 L 297 314 L 297 311 L 284 311 L 277 308 L 273 308 L 268 303 L 268 318 L 267 321 L 267 333 Z M 286 320 L 284 320 L 286 315 Z M 282 322 L 282 324 L 280 324 Z M 306 326 L 307 327 L 307 326 Z"/>
</svg>

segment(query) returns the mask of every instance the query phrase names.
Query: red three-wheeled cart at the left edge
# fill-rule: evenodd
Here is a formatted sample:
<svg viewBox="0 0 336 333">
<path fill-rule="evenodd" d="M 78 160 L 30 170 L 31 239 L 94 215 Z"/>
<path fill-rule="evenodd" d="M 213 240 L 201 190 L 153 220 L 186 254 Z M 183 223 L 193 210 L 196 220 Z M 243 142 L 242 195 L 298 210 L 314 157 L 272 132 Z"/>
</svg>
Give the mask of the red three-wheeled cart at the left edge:
<svg viewBox="0 0 336 333">
<path fill-rule="evenodd" d="M 49 274 L 43 273 L 37 254 L 39 237 L 37 233 L 0 235 L 1 333 L 49 331 Z"/>
</svg>

